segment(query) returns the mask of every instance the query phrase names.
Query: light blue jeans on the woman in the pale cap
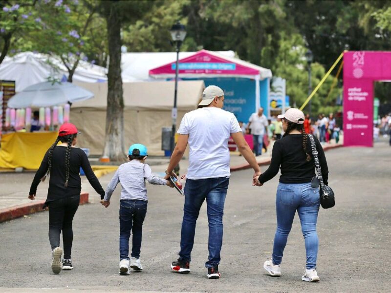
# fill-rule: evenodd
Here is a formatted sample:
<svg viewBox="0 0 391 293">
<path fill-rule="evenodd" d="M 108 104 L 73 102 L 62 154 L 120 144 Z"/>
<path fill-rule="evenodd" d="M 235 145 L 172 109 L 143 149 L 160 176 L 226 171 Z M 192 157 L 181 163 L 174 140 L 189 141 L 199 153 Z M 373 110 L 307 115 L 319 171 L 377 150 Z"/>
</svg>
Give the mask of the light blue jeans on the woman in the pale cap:
<svg viewBox="0 0 391 293">
<path fill-rule="evenodd" d="M 307 256 L 306 268 L 308 270 L 315 269 L 319 246 L 318 234 L 316 233 L 319 205 L 319 188 L 312 188 L 311 183 L 279 184 L 276 199 L 277 230 L 273 245 L 273 263 L 275 265 L 281 264 L 283 251 L 297 210 L 304 236 Z"/>
</svg>

